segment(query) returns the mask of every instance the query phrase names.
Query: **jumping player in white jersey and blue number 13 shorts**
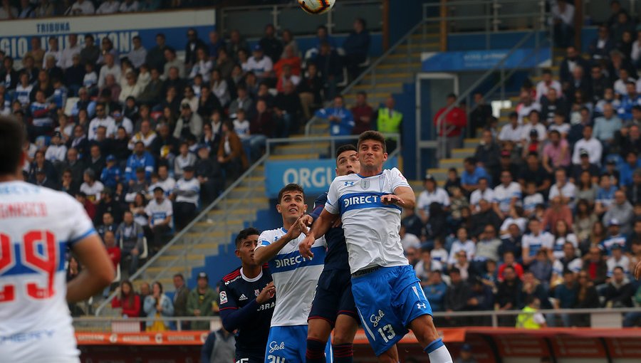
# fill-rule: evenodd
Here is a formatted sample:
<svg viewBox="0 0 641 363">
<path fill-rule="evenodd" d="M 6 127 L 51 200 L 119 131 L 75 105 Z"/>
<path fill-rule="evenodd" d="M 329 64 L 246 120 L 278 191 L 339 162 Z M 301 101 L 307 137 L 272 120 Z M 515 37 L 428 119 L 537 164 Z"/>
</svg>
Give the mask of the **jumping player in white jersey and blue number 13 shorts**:
<svg viewBox="0 0 641 363">
<path fill-rule="evenodd" d="M 312 244 L 340 214 L 348 246 L 352 293 L 363 328 L 379 362 L 398 362 L 395 344 L 411 329 L 432 363 L 452 357 L 432 321 L 419 279 L 403 254 L 398 231 L 401 209 L 414 209 L 414 191 L 402 173 L 383 170 L 385 137 L 363 132 L 358 138 L 360 173 L 336 177 L 325 210 L 300 243 L 301 256 L 314 255 Z"/>
</svg>

